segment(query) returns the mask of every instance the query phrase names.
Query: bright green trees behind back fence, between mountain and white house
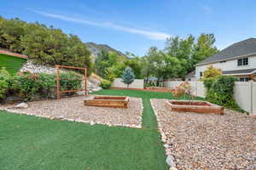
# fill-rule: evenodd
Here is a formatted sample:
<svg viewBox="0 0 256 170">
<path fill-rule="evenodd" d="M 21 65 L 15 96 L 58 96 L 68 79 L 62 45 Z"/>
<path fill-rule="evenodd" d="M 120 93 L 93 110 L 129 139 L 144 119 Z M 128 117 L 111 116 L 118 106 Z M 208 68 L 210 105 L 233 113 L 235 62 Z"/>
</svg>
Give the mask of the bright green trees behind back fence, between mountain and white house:
<svg viewBox="0 0 256 170">
<path fill-rule="evenodd" d="M 110 81 L 121 77 L 127 66 L 134 71 L 136 78 L 157 77 L 160 79 L 184 78 L 201 60 L 218 53 L 214 46 L 213 34 L 201 34 L 195 38 L 170 37 L 166 39 L 166 48 L 151 47 L 147 54 L 138 57 L 126 53 L 127 58 L 113 53 L 102 53 L 96 58 L 96 73 Z"/>
</svg>

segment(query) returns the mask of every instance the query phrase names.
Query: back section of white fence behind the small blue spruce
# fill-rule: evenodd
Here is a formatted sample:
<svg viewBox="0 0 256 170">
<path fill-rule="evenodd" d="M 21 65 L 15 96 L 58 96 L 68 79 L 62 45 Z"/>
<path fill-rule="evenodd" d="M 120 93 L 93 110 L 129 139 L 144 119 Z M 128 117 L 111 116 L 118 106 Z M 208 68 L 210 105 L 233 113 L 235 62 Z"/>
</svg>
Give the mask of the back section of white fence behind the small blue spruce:
<svg viewBox="0 0 256 170">
<path fill-rule="evenodd" d="M 112 83 L 112 88 L 127 88 L 127 85 L 122 82 L 121 78 L 115 78 Z M 144 88 L 144 80 L 135 79 L 134 82 L 129 85 L 129 88 Z"/>
</svg>

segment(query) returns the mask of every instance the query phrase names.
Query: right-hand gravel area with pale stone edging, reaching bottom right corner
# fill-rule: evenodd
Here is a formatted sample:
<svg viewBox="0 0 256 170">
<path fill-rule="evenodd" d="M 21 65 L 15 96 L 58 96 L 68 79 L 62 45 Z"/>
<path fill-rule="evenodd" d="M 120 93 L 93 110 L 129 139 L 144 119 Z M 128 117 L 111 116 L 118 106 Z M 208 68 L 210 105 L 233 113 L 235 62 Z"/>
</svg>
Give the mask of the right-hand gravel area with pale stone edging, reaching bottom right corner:
<svg viewBox="0 0 256 170">
<path fill-rule="evenodd" d="M 168 111 L 165 101 L 151 99 L 177 169 L 256 169 L 256 119 L 230 110 L 224 116 Z"/>
</svg>

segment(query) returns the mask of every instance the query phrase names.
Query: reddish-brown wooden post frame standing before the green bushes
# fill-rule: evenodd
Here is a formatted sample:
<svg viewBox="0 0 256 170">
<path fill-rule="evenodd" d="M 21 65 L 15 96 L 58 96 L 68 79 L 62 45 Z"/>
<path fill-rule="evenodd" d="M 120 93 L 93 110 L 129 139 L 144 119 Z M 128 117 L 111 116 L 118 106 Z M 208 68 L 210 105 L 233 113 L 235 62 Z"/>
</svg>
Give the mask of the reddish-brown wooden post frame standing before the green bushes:
<svg viewBox="0 0 256 170">
<path fill-rule="evenodd" d="M 56 73 L 57 73 L 57 77 L 56 77 L 56 83 L 57 83 L 57 89 L 56 89 L 56 93 L 57 93 L 57 99 L 60 100 L 61 99 L 61 94 L 62 93 L 70 93 L 70 92 L 79 92 L 79 91 L 84 91 L 84 95 L 87 95 L 87 69 L 86 68 L 82 68 L 82 67 L 74 67 L 74 66 L 66 66 L 66 65 L 55 65 L 56 68 Z M 84 88 L 81 89 L 72 89 L 72 90 L 64 90 L 61 91 L 61 68 L 67 68 L 67 69 L 75 69 L 75 70 L 83 70 L 84 71 Z M 81 80 L 82 79 L 71 79 L 71 80 Z"/>
</svg>

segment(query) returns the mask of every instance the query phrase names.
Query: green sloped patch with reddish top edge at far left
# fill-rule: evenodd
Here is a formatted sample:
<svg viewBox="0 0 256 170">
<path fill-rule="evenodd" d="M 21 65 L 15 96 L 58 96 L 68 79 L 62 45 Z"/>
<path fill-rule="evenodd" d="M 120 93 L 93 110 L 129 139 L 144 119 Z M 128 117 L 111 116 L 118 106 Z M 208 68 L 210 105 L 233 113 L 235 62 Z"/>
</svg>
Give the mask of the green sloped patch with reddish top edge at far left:
<svg viewBox="0 0 256 170">
<path fill-rule="evenodd" d="M 20 67 L 26 62 L 26 59 L 21 59 L 7 54 L 0 54 L 0 68 L 5 67 L 10 74 L 15 74 Z"/>
</svg>

